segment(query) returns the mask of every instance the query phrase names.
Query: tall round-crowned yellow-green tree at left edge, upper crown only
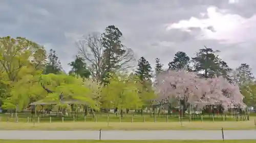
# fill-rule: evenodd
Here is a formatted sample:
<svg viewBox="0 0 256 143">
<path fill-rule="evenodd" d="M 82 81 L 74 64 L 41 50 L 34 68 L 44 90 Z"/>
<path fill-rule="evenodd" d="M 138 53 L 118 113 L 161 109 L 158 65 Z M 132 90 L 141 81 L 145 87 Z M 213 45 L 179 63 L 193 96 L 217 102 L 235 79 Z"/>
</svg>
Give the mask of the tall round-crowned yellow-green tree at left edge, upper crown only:
<svg viewBox="0 0 256 143">
<path fill-rule="evenodd" d="M 17 81 L 22 68 L 36 68 L 45 60 L 43 46 L 23 37 L 0 37 L 0 69 L 8 81 Z"/>
</svg>

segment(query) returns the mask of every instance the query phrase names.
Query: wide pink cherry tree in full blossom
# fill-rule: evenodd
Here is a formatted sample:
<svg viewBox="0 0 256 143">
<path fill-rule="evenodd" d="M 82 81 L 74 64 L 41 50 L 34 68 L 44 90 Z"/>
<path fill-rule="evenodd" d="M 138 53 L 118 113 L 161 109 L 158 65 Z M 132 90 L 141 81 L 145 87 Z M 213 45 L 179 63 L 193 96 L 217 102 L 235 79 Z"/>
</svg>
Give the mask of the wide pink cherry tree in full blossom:
<svg viewBox="0 0 256 143">
<path fill-rule="evenodd" d="M 178 101 L 184 110 L 188 105 L 199 105 L 201 109 L 206 105 L 245 107 L 239 87 L 223 77 L 202 79 L 186 70 L 165 70 L 156 76 L 155 87 L 157 100 Z"/>
</svg>

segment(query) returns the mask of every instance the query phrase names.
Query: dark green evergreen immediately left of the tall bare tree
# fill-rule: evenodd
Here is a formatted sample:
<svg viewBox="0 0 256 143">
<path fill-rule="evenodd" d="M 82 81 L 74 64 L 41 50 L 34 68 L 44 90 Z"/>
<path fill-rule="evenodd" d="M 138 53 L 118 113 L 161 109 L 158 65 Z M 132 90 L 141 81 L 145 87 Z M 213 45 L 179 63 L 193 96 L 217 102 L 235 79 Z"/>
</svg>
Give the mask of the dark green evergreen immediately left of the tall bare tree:
<svg viewBox="0 0 256 143">
<path fill-rule="evenodd" d="M 75 61 L 72 61 L 71 63 L 69 63 L 69 65 L 72 67 L 72 69 L 69 71 L 70 75 L 75 74 L 79 75 L 82 78 L 90 77 L 90 70 L 87 68 L 87 64 L 81 57 L 76 56 Z"/>
</svg>

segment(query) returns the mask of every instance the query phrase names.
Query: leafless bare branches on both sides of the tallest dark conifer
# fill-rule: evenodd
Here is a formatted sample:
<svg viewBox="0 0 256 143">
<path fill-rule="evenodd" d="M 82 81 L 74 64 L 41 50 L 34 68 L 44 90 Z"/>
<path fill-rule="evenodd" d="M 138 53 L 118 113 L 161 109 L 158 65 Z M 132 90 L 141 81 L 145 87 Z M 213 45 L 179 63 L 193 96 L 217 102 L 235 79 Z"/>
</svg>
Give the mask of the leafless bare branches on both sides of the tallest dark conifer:
<svg viewBox="0 0 256 143">
<path fill-rule="evenodd" d="M 91 71 L 92 78 L 97 81 L 101 81 L 107 70 L 105 59 L 105 48 L 102 44 L 101 35 L 98 33 L 93 33 L 88 36 L 83 36 L 75 43 L 78 48 L 79 55 L 84 58 L 86 63 L 89 65 L 89 70 Z M 114 61 L 115 71 L 123 71 L 134 67 L 134 53 L 131 49 L 125 48 L 125 53 L 118 56 L 118 59 Z"/>
</svg>

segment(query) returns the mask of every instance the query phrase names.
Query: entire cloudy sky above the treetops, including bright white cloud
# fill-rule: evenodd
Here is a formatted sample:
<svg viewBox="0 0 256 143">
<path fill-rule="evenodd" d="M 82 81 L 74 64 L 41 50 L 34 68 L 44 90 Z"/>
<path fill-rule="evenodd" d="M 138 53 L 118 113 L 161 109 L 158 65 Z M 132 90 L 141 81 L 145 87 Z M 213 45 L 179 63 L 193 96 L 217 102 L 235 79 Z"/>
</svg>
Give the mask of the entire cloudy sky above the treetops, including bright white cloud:
<svg viewBox="0 0 256 143">
<path fill-rule="evenodd" d="M 253 0 L 24 0 L 0 1 L 0 36 L 22 36 L 54 49 L 63 68 L 81 35 L 117 26 L 136 58 L 167 67 L 174 54 L 207 45 L 229 66 L 248 63 L 256 74 L 256 1 Z"/>
</svg>

